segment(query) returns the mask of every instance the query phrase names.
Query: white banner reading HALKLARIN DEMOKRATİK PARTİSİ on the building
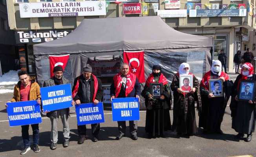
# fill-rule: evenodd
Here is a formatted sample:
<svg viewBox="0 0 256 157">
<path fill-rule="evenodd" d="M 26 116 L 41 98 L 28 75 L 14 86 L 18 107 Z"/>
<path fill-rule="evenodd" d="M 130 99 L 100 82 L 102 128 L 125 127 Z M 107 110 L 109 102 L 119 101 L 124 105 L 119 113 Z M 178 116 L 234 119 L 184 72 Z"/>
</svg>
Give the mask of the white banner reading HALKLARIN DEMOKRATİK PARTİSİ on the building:
<svg viewBox="0 0 256 157">
<path fill-rule="evenodd" d="M 106 1 L 20 3 L 20 17 L 106 15 Z"/>
</svg>

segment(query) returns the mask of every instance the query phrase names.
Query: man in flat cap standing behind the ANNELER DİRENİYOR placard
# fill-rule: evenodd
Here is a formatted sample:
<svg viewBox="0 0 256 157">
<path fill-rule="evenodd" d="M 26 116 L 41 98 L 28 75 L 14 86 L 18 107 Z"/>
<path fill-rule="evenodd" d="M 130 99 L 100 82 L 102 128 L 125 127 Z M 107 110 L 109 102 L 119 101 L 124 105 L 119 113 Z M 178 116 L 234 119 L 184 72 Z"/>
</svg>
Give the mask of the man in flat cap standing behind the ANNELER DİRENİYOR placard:
<svg viewBox="0 0 256 157">
<path fill-rule="evenodd" d="M 74 80 L 72 89 L 72 96 L 76 104 L 84 104 L 93 102 L 95 105 L 101 101 L 103 90 L 101 80 L 91 73 L 92 68 L 87 64 L 82 69 L 82 75 Z M 86 125 L 77 126 L 79 140 L 78 144 L 84 143 L 86 136 Z M 100 131 L 100 124 L 91 124 L 92 141 L 98 141 L 98 134 Z"/>
</svg>

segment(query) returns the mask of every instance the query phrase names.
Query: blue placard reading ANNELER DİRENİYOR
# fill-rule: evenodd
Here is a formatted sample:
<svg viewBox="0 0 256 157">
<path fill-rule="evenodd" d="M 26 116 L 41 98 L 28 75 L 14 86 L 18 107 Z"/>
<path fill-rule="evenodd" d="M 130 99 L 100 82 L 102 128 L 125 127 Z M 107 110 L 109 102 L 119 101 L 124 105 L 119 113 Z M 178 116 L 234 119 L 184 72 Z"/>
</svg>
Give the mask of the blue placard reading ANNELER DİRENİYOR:
<svg viewBox="0 0 256 157">
<path fill-rule="evenodd" d="M 103 103 L 88 103 L 75 106 L 77 125 L 96 124 L 105 122 Z"/>
</svg>

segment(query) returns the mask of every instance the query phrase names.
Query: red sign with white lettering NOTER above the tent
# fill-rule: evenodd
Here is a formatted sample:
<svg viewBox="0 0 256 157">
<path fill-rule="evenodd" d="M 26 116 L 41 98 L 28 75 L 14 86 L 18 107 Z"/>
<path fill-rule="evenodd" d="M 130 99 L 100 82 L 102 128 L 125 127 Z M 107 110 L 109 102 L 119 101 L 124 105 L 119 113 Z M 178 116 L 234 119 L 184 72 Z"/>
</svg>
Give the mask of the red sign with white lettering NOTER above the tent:
<svg viewBox="0 0 256 157">
<path fill-rule="evenodd" d="M 124 3 L 123 14 L 141 14 L 141 3 Z"/>
</svg>

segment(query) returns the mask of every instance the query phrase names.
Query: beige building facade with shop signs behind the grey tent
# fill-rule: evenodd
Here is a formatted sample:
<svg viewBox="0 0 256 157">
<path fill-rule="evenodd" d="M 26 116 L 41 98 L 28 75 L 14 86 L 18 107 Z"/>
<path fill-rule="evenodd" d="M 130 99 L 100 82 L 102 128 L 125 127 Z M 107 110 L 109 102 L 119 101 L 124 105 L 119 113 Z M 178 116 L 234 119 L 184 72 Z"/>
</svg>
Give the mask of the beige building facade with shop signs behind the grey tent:
<svg viewBox="0 0 256 157">
<path fill-rule="evenodd" d="M 24 5 L 27 2 L 29 4 Z M 89 14 L 89 7 L 80 7 L 80 5 L 89 5 L 89 2 L 91 4 L 98 3 L 95 7 L 91 7 L 95 13 Z M 178 31 L 211 36 L 214 43 L 212 58 L 217 59 L 219 51 L 223 49 L 227 53 L 228 71 L 233 71 L 233 57 L 236 51 L 247 46 L 243 43 L 249 41 L 248 32 L 256 28 L 255 1 L 251 0 L 89 2 L 83 0 L 9 0 L 9 26 L 15 31 L 16 46 L 18 47 L 16 51 L 20 57 L 21 68 L 31 74 L 35 73 L 33 44 L 64 37 L 79 26 L 84 18 L 159 15 L 166 24 Z M 64 8 L 64 5 L 66 8 L 70 8 L 70 13 L 67 13 L 69 10 L 59 10 L 58 12 L 58 7 L 62 7 L 62 5 Z M 80 9 L 73 9 L 75 5 L 79 5 Z M 220 9 L 225 6 L 225 9 Z M 29 9 L 32 11 L 30 14 Z M 101 11 L 106 9 L 105 15 L 97 9 L 101 9 Z M 49 11 L 57 12 L 51 14 L 53 12 Z M 154 30 L 149 30 L 149 33 L 150 31 Z"/>
</svg>

